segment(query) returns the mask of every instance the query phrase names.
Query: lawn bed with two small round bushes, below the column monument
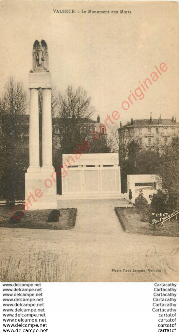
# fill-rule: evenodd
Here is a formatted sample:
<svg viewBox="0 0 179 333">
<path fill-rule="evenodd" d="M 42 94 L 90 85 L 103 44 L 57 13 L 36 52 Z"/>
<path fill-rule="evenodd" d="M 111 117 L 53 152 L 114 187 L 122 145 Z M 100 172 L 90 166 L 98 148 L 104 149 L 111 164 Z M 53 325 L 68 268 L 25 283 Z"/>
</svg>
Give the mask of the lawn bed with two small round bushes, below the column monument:
<svg viewBox="0 0 179 333">
<path fill-rule="evenodd" d="M 59 209 L 58 222 L 48 222 L 48 215 L 51 210 L 30 210 L 25 213 L 25 217 L 22 219 L 16 219 L 15 223 L 10 223 L 11 208 L 0 206 L 0 227 L 67 230 L 75 226 L 76 208 Z"/>
</svg>

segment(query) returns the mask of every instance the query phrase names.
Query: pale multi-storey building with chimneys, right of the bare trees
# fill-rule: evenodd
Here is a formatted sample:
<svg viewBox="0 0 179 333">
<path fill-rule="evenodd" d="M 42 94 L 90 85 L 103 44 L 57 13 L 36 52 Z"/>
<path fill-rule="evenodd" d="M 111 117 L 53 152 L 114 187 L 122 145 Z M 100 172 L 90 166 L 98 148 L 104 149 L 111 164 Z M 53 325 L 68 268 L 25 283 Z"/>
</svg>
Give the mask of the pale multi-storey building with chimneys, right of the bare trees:
<svg viewBox="0 0 179 333">
<path fill-rule="evenodd" d="M 178 123 L 176 119 L 131 119 L 131 122 L 118 129 L 119 135 L 121 131 L 131 131 L 133 138 L 141 142 L 141 144 L 149 149 L 159 149 L 163 144 L 169 144 L 171 139 L 178 134 Z"/>
</svg>

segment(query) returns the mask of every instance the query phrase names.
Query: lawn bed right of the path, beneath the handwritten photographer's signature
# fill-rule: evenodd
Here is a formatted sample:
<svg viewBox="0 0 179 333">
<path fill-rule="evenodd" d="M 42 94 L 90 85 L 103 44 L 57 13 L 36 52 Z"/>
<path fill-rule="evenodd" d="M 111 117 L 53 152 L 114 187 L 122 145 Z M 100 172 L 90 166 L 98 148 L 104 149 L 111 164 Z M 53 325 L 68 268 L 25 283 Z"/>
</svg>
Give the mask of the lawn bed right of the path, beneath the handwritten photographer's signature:
<svg viewBox="0 0 179 333">
<path fill-rule="evenodd" d="M 126 232 L 154 236 L 179 236 L 179 220 L 175 217 L 152 230 L 151 224 L 142 222 L 141 216 L 134 207 L 115 207 L 119 221 Z"/>
</svg>

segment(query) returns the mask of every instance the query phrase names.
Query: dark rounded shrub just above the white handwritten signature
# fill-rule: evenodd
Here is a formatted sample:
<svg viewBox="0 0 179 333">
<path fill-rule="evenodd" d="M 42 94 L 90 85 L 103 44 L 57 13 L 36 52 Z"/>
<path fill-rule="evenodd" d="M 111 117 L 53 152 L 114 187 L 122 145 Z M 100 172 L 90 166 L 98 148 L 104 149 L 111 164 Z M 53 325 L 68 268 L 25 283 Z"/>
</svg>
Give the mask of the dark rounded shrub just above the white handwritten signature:
<svg viewBox="0 0 179 333">
<path fill-rule="evenodd" d="M 151 207 L 156 213 L 164 213 L 167 210 L 168 194 L 164 193 L 161 189 L 157 193 L 149 195 L 151 200 Z"/>
</svg>

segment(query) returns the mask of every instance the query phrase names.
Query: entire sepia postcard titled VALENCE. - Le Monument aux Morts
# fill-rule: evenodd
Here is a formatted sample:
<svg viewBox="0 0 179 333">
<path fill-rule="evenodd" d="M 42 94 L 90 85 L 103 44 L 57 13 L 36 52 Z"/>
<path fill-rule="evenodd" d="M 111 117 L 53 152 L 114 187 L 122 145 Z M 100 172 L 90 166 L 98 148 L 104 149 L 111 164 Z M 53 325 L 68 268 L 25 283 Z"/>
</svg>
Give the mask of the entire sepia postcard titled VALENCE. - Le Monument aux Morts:
<svg viewBox="0 0 179 333">
<path fill-rule="evenodd" d="M 0 281 L 179 281 L 177 1 L 1 1 Z"/>
</svg>

